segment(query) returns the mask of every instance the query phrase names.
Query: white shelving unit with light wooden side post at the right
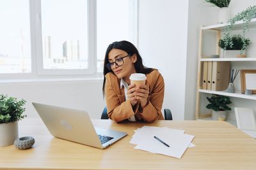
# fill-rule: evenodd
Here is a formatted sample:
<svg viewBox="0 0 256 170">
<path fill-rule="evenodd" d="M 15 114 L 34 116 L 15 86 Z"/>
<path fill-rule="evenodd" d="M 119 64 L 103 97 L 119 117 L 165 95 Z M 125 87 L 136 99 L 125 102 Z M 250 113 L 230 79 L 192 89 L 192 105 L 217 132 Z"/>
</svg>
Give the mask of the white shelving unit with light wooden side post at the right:
<svg viewBox="0 0 256 170">
<path fill-rule="evenodd" d="M 243 21 L 236 22 L 236 24 L 233 25 L 232 29 L 234 31 L 239 31 L 243 29 Z M 209 53 L 208 55 L 205 55 L 205 39 L 207 39 L 207 31 L 214 32 L 214 38 L 216 40 L 215 43 L 206 43 L 208 45 L 209 49 L 214 49 L 214 52 L 212 54 L 218 54 L 220 55 L 220 48 L 218 47 L 218 41 L 221 38 L 221 34 L 223 33 L 225 29 L 226 24 L 216 24 L 216 25 L 209 25 L 209 26 L 202 26 L 200 28 L 200 38 L 199 38 L 199 49 L 198 49 L 198 74 L 197 74 L 197 87 L 196 87 L 196 111 L 195 111 L 195 118 L 196 120 L 212 120 L 211 118 L 211 110 L 205 111 L 202 108 L 205 108 L 205 103 L 207 103 L 206 99 L 204 99 L 205 96 L 210 97 L 211 94 L 218 94 L 222 96 L 228 96 L 231 98 L 231 100 L 238 100 L 239 102 L 243 101 L 243 104 L 239 106 L 239 102 L 236 102 L 236 107 L 250 107 L 253 105 L 253 107 L 256 106 L 256 94 L 253 95 L 246 95 L 241 93 L 241 89 L 238 89 L 235 93 L 229 93 L 225 92 L 225 90 L 221 91 L 214 91 L 214 90 L 205 90 L 202 88 L 202 67 L 204 62 L 223 62 L 223 61 L 230 61 L 231 67 L 236 67 L 236 69 L 256 69 L 256 52 L 250 53 L 245 58 L 210 58 Z M 252 40 L 252 44 L 255 43 L 256 39 L 253 38 L 253 34 L 255 35 L 256 31 L 256 18 L 253 18 L 249 24 L 249 29 L 251 32 L 251 36 L 248 36 Z M 206 38 L 205 38 L 206 37 Z M 209 48 L 211 46 L 211 48 Z M 251 45 L 252 46 L 252 45 Z M 255 46 L 251 47 L 251 49 L 255 48 Z M 240 74 L 239 74 L 240 76 Z M 237 80 L 239 81 L 239 80 Z M 239 82 L 237 82 L 237 85 L 239 85 Z M 239 85 L 241 86 L 241 85 Z M 202 102 L 203 101 L 203 102 Z M 206 101 L 206 102 L 205 102 Z M 245 104 L 244 104 L 245 103 Z M 246 105 L 246 103 L 248 103 Z M 252 104 L 253 103 L 253 104 Z M 233 107 L 234 107 L 233 106 Z M 203 111 L 202 111 L 203 110 Z M 234 108 L 232 108 L 234 110 Z M 227 119 L 227 122 L 229 122 L 232 125 L 236 126 L 236 119 Z"/>
</svg>

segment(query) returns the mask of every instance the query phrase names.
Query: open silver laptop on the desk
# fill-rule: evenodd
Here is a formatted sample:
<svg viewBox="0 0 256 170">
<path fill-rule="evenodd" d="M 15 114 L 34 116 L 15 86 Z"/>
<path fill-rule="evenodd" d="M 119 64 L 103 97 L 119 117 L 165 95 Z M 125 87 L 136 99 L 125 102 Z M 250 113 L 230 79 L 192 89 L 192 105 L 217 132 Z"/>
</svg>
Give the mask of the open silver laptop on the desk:
<svg viewBox="0 0 256 170">
<path fill-rule="evenodd" d="M 104 149 L 127 135 L 93 127 L 86 111 L 32 103 L 52 136 Z"/>
</svg>

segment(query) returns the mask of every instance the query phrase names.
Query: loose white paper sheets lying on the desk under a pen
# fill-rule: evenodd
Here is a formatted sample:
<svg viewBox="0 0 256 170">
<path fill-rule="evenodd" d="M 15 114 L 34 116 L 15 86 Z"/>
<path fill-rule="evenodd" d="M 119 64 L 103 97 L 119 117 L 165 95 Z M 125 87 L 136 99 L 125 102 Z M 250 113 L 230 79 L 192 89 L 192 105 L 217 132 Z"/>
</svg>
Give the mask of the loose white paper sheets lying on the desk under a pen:
<svg viewBox="0 0 256 170">
<path fill-rule="evenodd" d="M 143 126 L 135 131 L 130 143 L 136 145 L 134 149 L 180 159 L 188 147 L 195 146 L 191 143 L 193 138 L 194 136 L 184 134 L 184 131 L 179 129 Z"/>
</svg>

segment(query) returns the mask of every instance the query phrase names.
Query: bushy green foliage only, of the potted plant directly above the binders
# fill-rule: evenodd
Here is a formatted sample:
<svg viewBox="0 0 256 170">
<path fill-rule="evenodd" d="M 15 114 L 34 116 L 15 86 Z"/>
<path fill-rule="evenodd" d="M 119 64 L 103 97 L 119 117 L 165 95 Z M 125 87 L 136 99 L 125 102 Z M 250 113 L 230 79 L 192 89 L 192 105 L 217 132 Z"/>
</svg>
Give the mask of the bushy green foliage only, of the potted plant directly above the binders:
<svg viewBox="0 0 256 170">
<path fill-rule="evenodd" d="M 220 39 L 218 45 L 222 50 L 242 50 L 250 45 L 251 41 L 249 38 L 244 38 L 240 34 L 235 34 L 231 36 L 224 36 Z"/>
</svg>

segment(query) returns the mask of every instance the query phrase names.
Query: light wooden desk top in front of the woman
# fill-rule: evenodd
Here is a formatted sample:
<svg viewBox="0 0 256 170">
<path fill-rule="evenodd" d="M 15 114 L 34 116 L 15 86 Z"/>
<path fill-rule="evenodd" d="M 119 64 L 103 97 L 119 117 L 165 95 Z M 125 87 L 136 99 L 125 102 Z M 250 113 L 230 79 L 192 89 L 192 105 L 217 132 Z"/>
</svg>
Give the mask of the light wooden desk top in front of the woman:
<svg viewBox="0 0 256 170">
<path fill-rule="evenodd" d="M 256 169 L 256 140 L 227 122 L 159 121 L 154 124 L 93 120 L 98 127 L 127 132 L 114 145 L 100 150 L 54 138 L 40 119 L 19 122 L 20 137 L 33 136 L 29 150 L 0 148 L 0 169 Z M 143 125 L 184 129 L 195 135 L 194 148 L 181 159 L 134 150 L 129 144 L 133 130 Z"/>
</svg>

